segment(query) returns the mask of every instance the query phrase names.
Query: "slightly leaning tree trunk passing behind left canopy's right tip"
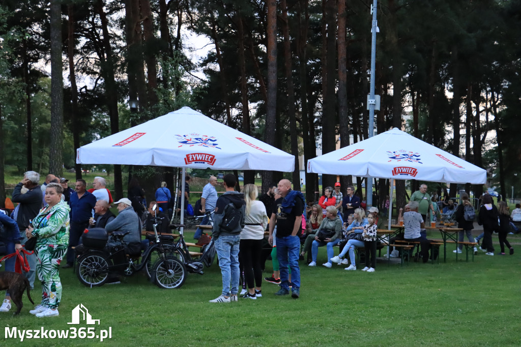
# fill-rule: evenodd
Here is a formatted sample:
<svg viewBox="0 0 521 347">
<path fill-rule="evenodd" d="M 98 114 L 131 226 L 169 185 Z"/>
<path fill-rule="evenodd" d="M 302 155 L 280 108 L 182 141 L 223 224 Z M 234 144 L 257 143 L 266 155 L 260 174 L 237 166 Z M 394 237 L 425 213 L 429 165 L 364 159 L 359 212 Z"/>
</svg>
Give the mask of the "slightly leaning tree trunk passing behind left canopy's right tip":
<svg viewBox="0 0 521 347">
<path fill-rule="evenodd" d="M 290 27 L 288 22 L 288 5 L 286 0 L 280 1 L 282 8 L 282 33 L 284 35 L 284 72 L 288 86 L 288 116 L 291 138 L 291 154 L 295 156 L 293 170 L 293 190 L 300 191 L 299 143 L 297 142 L 296 115 L 295 115 L 295 88 L 293 86 L 293 69 L 291 62 Z"/>
</svg>

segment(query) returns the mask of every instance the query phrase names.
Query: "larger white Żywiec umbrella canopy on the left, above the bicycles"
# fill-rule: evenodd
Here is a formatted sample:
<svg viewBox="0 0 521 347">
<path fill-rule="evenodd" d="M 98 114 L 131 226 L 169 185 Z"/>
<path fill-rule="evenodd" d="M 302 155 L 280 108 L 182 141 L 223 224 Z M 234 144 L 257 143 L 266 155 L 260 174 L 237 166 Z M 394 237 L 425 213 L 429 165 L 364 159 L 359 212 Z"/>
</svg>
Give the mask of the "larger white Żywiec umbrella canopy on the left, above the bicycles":
<svg viewBox="0 0 521 347">
<path fill-rule="evenodd" d="M 79 164 L 293 171 L 295 157 L 183 107 L 78 148 Z"/>
</svg>

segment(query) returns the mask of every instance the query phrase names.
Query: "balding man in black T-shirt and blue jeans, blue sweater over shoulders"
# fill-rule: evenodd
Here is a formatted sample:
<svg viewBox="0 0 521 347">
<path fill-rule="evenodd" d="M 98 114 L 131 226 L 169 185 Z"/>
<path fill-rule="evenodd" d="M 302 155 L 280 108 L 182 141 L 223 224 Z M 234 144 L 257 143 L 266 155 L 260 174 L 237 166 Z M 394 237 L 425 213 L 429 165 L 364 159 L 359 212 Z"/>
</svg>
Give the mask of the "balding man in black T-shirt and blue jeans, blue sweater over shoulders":
<svg viewBox="0 0 521 347">
<path fill-rule="evenodd" d="M 304 210 L 304 195 L 291 190 L 291 182 L 283 179 L 277 186 L 280 195 L 275 201 L 269 220 L 269 244 L 273 244 L 273 230 L 277 224 L 277 259 L 280 266 L 280 289 L 275 295 L 288 295 L 289 272 L 291 268 L 291 296 L 300 296 L 300 238 L 302 233 L 302 212 Z"/>
</svg>

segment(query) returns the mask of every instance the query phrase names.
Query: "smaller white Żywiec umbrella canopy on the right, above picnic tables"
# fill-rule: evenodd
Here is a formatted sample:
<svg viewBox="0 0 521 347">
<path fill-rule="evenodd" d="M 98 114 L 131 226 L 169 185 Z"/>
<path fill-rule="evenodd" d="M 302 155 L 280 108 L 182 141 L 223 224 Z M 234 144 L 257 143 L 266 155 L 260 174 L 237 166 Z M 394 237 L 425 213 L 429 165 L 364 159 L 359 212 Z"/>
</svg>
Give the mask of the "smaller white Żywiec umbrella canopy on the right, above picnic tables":
<svg viewBox="0 0 521 347">
<path fill-rule="evenodd" d="M 308 160 L 307 172 L 483 184 L 487 171 L 399 129 Z"/>
</svg>

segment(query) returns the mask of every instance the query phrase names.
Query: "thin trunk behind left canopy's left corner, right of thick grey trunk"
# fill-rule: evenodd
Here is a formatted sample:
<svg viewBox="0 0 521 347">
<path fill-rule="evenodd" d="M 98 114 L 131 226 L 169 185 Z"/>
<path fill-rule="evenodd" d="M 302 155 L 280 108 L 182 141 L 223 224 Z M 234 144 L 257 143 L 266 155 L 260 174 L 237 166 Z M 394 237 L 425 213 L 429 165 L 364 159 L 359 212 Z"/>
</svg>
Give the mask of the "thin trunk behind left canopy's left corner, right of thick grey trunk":
<svg viewBox="0 0 521 347">
<path fill-rule="evenodd" d="M 76 71 L 74 66 L 74 5 L 67 6 L 68 12 L 68 39 L 67 54 L 69 56 L 69 80 L 70 80 L 70 98 L 71 98 L 71 125 L 72 125 L 72 143 L 74 153 L 80 148 L 80 127 L 78 125 L 78 86 L 76 85 Z M 81 164 L 75 163 L 76 180 L 81 179 Z"/>
</svg>

